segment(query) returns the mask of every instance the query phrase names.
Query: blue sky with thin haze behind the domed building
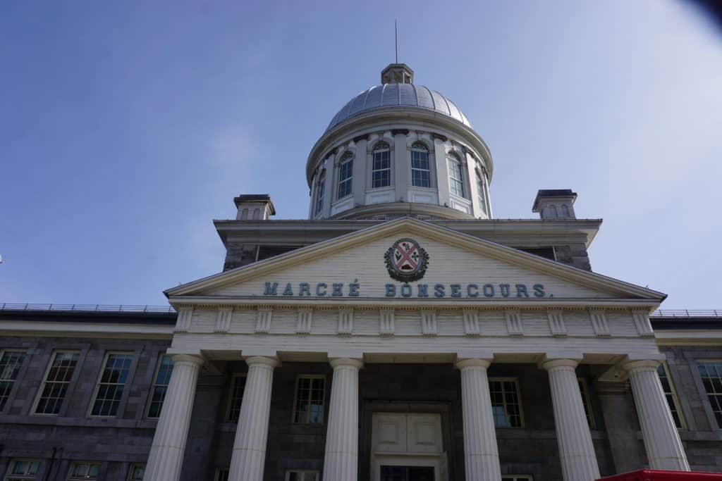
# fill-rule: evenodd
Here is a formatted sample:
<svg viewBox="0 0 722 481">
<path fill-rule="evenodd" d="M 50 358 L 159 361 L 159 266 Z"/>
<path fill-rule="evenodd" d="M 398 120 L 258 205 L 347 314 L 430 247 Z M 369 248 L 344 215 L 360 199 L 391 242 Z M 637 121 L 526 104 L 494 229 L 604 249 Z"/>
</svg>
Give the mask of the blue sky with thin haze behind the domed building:
<svg viewBox="0 0 722 481">
<path fill-rule="evenodd" d="M 0 302 L 165 304 L 212 219 L 308 206 L 306 156 L 399 60 L 495 160 L 497 218 L 573 188 L 599 273 L 722 308 L 722 32 L 680 1 L 0 5 Z"/>
</svg>

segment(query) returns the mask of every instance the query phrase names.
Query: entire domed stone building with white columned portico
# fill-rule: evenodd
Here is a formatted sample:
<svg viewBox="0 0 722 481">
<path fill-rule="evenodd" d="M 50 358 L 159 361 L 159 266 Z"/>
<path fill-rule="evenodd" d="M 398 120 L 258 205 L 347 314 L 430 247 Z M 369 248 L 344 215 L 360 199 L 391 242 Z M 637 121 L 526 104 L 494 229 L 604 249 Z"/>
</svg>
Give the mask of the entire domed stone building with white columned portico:
<svg viewBox="0 0 722 481">
<path fill-rule="evenodd" d="M 2 306 L 4 480 L 722 470 L 722 317 L 594 273 L 571 190 L 494 219 L 466 116 L 381 79 L 311 149 L 308 220 L 238 196 L 168 309 Z"/>
</svg>

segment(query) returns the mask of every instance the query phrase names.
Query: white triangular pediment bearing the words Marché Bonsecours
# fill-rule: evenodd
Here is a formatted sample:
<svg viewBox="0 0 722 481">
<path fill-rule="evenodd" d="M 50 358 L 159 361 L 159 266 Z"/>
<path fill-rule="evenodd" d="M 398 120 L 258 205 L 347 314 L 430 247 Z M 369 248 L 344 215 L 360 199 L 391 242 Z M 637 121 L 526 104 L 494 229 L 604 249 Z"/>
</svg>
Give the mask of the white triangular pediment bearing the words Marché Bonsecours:
<svg viewBox="0 0 722 481">
<path fill-rule="evenodd" d="M 411 239 L 428 256 L 422 277 L 393 278 L 386 253 Z M 407 246 L 408 247 L 408 246 Z M 422 261 L 421 250 L 407 270 Z M 399 256 L 400 257 L 400 256 Z M 401 259 L 401 262 L 404 262 Z M 394 274 L 395 275 L 395 274 Z M 418 276 L 418 275 L 417 275 Z M 416 219 L 389 221 L 170 289 L 172 300 L 467 299 L 646 300 L 665 295 Z"/>
</svg>

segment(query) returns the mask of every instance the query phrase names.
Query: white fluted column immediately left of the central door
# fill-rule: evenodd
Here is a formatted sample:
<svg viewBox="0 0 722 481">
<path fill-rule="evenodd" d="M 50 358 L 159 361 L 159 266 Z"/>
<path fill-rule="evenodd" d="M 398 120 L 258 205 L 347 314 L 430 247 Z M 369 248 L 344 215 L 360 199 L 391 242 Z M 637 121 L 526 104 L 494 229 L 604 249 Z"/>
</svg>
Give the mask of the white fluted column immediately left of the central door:
<svg viewBox="0 0 722 481">
<path fill-rule="evenodd" d="M 356 481 L 359 457 L 359 369 L 358 359 L 331 360 L 329 428 L 326 431 L 326 455 L 323 458 L 324 481 Z"/>
</svg>

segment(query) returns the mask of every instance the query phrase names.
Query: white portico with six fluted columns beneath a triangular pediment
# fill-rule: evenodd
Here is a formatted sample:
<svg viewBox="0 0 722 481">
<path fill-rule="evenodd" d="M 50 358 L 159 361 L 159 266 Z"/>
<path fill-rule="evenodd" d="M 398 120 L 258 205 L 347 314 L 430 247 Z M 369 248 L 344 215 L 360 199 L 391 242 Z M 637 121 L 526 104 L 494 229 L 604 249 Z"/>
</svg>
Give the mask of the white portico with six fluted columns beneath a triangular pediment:
<svg viewBox="0 0 722 481">
<path fill-rule="evenodd" d="M 428 253 L 424 282 L 431 286 L 528 283 L 544 286 L 544 295 L 387 297 L 383 252 L 398 239 L 414 239 Z M 313 284 L 318 273 L 335 276 L 329 286 L 354 284 L 358 295 L 262 294 L 269 278 Z M 234 481 L 264 479 L 274 374 L 287 364 L 326 365 L 325 481 L 383 481 L 384 472 L 499 480 L 511 468 L 500 460 L 497 433 L 503 443 L 513 438 L 509 433 L 525 416 L 521 397 L 541 393 L 546 400 L 539 402 L 553 415 L 545 424 L 531 422 L 541 426 L 534 436 L 557 444 L 554 459 L 565 481 L 594 480 L 600 475 L 595 442 L 607 441 L 603 431 L 590 430 L 580 371 L 600 383 L 628 377 L 650 466 L 689 469 L 654 370 L 660 355 L 647 314 L 664 295 L 646 288 L 399 219 L 180 286 L 168 296 L 178 309 L 169 352 L 178 366 L 189 367 L 174 370 L 170 380 L 148 467 L 157 480 L 175 481 L 180 470 L 175 453 L 187 436 L 183 420 L 191 415 L 198 373 L 190 366 L 219 369 L 241 359 L 248 368 L 230 462 Z M 526 376 L 521 391 L 519 376 Z M 539 394 L 526 378 L 541 387 Z M 404 383 L 413 385 L 404 390 Z M 313 396 L 310 405 L 326 399 Z M 173 429 L 160 428 L 165 425 Z M 164 469 L 156 467 L 161 464 Z"/>
</svg>

